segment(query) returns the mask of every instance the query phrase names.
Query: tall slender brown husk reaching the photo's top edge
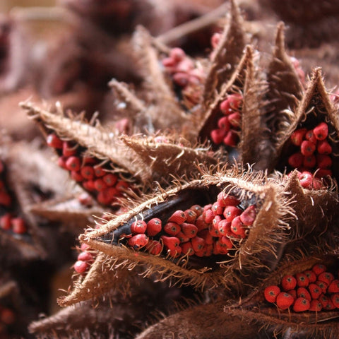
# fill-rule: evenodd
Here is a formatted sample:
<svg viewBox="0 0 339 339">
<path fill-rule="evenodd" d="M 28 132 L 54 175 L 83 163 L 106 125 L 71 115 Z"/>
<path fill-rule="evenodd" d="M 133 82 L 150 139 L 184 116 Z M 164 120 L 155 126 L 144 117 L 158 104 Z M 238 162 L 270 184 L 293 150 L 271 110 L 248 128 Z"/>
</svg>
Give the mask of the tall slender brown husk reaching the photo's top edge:
<svg viewBox="0 0 339 339">
<path fill-rule="evenodd" d="M 231 1 L 230 20 L 220 37 L 220 42 L 211 60 L 203 92 L 203 106 L 207 109 L 215 101 L 217 93 L 230 81 L 237 64 L 242 58 L 246 36 L 242 18 L 235 1 Z"/>
</svg>

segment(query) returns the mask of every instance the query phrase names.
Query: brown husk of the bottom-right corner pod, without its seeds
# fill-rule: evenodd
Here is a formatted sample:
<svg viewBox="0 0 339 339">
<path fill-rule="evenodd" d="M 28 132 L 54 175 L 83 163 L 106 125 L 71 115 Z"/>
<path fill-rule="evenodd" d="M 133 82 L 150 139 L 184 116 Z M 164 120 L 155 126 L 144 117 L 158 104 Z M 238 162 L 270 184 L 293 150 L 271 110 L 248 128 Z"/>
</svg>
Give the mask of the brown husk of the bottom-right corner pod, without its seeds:
<svg viewBox="0 0 339 339">
<path fill-rule="evenodd" d="M 242 321 L 255 321 L 273 335 L 283 333 L 299 333 L 298 338 L 334 339 L 339 333 L 339 312 L 281 310 L 274 304 L 266 302 L 263 290 L 270 285 L 278 285 L 284 275 L 294 275 L 310 270 L 316 263 L 323 263 L 331 272 L 338 272 L 338 255 L 314 254 L 299 259 L 289 258 L 280 263 L 263 284 L 252 292 L 249 297 L 238 303 L 225 306 L 224 311 L 230 316 L 237 316 Z"/>
</svg>

